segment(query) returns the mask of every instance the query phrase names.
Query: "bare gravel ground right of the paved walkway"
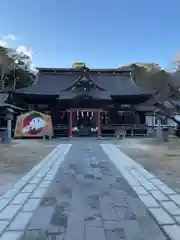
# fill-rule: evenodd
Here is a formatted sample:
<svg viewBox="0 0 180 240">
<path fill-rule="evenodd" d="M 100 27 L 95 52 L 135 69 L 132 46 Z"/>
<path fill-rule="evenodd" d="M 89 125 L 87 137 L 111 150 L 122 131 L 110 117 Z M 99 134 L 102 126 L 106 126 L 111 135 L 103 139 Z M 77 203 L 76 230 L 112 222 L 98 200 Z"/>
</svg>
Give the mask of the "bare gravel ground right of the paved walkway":
<svg viewBox="0 0 180 240">
<path fill-rule="evenodd" d="M 116 145 L 171 188 L 180 192 L 180 140 L 125 139 Z"/>
</svg>

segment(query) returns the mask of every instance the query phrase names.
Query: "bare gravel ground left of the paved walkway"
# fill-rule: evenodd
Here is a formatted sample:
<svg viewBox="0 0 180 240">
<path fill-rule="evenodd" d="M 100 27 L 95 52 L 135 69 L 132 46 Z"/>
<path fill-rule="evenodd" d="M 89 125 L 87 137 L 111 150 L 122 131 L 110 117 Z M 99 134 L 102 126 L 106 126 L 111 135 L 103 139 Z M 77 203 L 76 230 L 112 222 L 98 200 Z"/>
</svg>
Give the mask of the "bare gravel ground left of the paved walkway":
<svg viewBox="0 0 180 240">
<path fill-rule="evenodd" d="M 0 144 L 0 195 L 39 163 L 57 145 L 56 141 L 12 140 Z"/>
</svg>

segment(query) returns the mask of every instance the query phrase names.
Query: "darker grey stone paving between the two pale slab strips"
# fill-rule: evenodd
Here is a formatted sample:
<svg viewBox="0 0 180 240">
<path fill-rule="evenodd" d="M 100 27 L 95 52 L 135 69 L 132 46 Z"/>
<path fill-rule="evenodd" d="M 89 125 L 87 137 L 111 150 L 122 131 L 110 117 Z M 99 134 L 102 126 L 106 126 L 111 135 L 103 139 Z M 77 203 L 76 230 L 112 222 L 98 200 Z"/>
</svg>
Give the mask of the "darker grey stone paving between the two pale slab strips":
<svg viewBox="0 0 180 240">
<path fill-rule="evenodd" d="M 130 172 L 128 176 L 132 176 L 130 181 L 135 179 Z M 140 192 L 143 190 L 147 192 L 144 187 L 138 189 Z M 27 211 L 21 211 L 21 214 L 31 214 L 33 205 L 38 204 L 36 201 L 25 204 L 24 209 Z M 26 214 L 23 216 L 24 221 L 29 216 Z M 154 215 L 157 213 L 154 212 Z M 16 224 L 11 227 L 19 228 Z M 124 179 L 123 174 L 109 160 L 99 142 L 78 141 L 73 142 L 65 161 L 40 199 L 40 205 L 31 217 L 24 235 L 21 236 L 21 240 L 32 239 L 167 240 L 168 238 L 135 190 Z"/>
</svg>

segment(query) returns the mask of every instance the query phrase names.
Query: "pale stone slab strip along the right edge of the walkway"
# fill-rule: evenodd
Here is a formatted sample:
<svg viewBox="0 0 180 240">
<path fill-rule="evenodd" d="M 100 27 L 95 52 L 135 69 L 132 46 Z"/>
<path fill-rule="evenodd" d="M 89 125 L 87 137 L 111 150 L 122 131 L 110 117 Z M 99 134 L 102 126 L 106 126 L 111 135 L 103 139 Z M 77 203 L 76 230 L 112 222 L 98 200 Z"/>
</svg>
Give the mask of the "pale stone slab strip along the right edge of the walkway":
<svg viewBox="0 0 180 240">
<path fill-rule="evenodd" d="M 179 240 L 180 194 L 166 186 L 113 144 L 101 144 L 101 147 L 169 239 Z"/>
</svg>

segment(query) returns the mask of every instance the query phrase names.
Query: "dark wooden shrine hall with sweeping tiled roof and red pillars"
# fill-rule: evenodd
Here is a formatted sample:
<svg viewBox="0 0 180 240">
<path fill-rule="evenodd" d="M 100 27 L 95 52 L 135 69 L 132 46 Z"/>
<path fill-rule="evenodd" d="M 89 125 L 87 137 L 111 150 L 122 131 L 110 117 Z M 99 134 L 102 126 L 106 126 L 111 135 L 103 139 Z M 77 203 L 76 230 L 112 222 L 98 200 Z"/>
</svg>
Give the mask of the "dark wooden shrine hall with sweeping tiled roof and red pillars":
<svg viewBox="0 0 180 240">
<path fill-rule="evenodd" d="M 148 110 L 142 105 L 152 96 L 134 83 L 130 70 L 90 69 L 84 63 L 38 68 L 33 85 L 9 93 L 26 101 L 29 111 L 50 115 L 55 137 L 145 131 Z"/>
</svg>

